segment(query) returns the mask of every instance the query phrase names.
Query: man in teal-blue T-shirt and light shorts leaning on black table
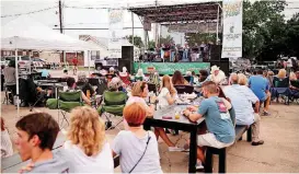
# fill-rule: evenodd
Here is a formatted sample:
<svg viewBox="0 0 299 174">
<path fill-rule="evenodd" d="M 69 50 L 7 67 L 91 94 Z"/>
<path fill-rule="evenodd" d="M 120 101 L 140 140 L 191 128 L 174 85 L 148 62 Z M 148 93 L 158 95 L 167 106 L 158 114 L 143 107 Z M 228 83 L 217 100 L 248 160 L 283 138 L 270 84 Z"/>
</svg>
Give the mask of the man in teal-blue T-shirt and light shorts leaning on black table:
<svg viewBox="0 0 299 174">
<path fill-rule="evenodd" d="M 203 94 L 206 97 L 202 101 L 197 113 L 194 106 L 184 111 L 184 115 L 192 121 L 205 117 L 208 134 L 198 136 L 197 159 L 205 164 L 205 151 L 203 147 L 226 148 L 234 142 L 234 126 L 229 111 L 231 105 L 225 98 L 218 97 L 217 84 L 212 81 L 203 84 Z"/>
</svg>

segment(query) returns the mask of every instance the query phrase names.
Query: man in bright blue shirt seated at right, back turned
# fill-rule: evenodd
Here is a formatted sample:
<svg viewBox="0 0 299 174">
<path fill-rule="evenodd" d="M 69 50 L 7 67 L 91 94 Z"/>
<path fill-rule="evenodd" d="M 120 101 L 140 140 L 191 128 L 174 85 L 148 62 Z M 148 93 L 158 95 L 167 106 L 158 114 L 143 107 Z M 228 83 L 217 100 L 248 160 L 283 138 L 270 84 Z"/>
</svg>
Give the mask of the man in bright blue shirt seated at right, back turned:
<svg viewBox="0 0 299 174">
<path fill-rule="evenodd" d="M 268 106 L 271 101 L 269 84 L 267 79 L 263 77 L 263 70 L 258 70 L 256 76 L 249 79 L 250 89 L 258 97 L 261 103 L 264 103 L 264 116 L 269 116 Z"/>
</svg>

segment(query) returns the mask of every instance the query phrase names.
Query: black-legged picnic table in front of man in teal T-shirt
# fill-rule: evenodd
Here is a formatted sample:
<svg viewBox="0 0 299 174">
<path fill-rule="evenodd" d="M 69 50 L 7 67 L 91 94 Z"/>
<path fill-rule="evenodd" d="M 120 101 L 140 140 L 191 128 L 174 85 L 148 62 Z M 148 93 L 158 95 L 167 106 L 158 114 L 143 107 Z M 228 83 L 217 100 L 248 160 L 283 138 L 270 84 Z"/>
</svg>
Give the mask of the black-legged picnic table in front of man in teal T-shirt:
<svg viewBox="0 0 299 174">
<path fill-rule="evenodd" d="M 143 127 L 146 130 L 150 130 L 150 127 L 162 127 L 175 130 L 183 130 L 191 134 L 189 136 L 189 164 L 188 173 L 196 173 L 197 161 L 197 129 L 205 124 L 205 118 L 200 118 L 197 123 L 191 121 L 181 113 L 186 105 L 172 105 L 163 109 L 154 112 L 153 117 L 148 117 L 145 120 Z M 180 119 L 175 119 L 174 115 L 179 112 Z M 163 116 L 171 116 L 172 119 L 163 119 Z"/>
</svg>

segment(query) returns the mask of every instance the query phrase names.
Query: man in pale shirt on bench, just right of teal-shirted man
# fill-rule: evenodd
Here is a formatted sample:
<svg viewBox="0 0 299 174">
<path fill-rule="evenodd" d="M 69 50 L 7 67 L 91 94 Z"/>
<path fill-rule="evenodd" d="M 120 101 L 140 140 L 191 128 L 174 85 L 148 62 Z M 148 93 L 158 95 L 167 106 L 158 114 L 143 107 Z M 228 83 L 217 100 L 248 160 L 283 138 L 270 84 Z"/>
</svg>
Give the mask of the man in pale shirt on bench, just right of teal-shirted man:
<svg viewBox="0 0 299 174">
<path fill-rule="evenodd" d="M 246 85 L 238 84 L 239 77 L 237 73 L 232 73 L 230 79 L 232 85 L 226 86 L 223 92 L 231 100 L 235 112 L 235 124 L 252 125 L 252 146 L 263 144 L 264 141 L 258 138 L 261 120 L 258 115 L 260 101 Z M 255 105 L 255 111 L 253 111 L 252 104 Z"/>
</svg>

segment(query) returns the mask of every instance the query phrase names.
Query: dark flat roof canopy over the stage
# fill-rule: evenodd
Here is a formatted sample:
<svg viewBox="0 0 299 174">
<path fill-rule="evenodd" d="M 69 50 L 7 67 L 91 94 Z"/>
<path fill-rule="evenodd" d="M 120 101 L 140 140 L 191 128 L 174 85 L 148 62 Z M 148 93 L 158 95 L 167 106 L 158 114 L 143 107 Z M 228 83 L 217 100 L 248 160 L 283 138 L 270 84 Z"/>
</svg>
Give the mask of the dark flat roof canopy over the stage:
<svg viewBox="0 0 299 174">
<path fill-rule="evenodd" d="M 217 21 L 221 16 L 219 2 L 186 3 L 174 5 L 152 5 L 129 8 L 135 14 L 151 23 L 196 23 Z"/>
</svg>

